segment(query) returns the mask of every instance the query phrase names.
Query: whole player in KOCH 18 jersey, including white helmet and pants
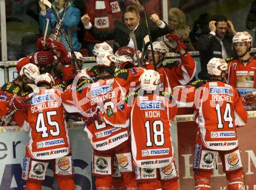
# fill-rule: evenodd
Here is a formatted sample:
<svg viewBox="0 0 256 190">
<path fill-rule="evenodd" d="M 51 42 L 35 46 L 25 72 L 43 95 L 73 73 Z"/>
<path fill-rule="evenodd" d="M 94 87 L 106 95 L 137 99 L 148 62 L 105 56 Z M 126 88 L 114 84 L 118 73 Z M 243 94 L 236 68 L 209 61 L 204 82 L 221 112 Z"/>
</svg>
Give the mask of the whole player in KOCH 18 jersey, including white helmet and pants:
<svg viewBox="0 0 256 190">
<path fill-rule="evenodd" d="M 130 93 L 124 104 L 106 109 L 104 121 L 112 126 L 130 125 L 131 150 L 139 189 L 179 189 L 170 122 L 177 112 L 172 94 L 159 92 L 160 75 L 146 70 L 141 89 Z M 114 114 L 114 112 L 116 112 Z"/>
</svg>

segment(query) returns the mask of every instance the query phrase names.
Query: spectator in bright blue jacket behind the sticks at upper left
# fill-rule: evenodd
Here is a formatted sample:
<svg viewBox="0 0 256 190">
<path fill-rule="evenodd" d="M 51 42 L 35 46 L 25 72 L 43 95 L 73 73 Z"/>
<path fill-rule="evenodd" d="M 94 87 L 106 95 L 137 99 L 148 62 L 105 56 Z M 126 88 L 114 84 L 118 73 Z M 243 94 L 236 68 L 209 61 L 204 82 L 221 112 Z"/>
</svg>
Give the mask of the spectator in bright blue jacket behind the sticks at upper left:
<svg viewBox="0 0 256 190">
<path fill-rule="evenodd" d="M 54 4 L 56 5 L 56 10 L 58 10 L 59 17 L 61 17 L 64 5 L 65 5 L 65 0 L 55 0 Z M 40 1 L 39 1 L 39 5 L 41 8 L 41 12 L 39 14 L 39 27 L 40 27 L 40 30 L 43 30 L 46 23 L 47 7 L 45 6 L 44 3 Z M 72 30 L 71 38 L 72 38 L 72 45 L 73 45 L 74 51 L 79 51 L 81 47 L 77 38 L 76 29 L 75 29 L 75 27 L 77 27 L 77 25 L 79 24 L 80 17 L 81 17 L 80 10 L 74 7 L 72 1 L 68 0 L 65 16 L 62 21 L 62 27 L 66 33 L 66 36 L 68 35 L 67 30 Z M 54 14 L 51 13 L 51 18 L 49 20 L 49 25 L 51 26 L 51 28 L 54 28 L 55 21 L 56 19 L 54 17 Z M 69 46 L 67 45 L 67 42 L 63 37 L 63 35 L 61 35 L 61 42 L 63 43 L 63 45 L 65 45 L 66 49 L 70 51 Z"/>
</svg>

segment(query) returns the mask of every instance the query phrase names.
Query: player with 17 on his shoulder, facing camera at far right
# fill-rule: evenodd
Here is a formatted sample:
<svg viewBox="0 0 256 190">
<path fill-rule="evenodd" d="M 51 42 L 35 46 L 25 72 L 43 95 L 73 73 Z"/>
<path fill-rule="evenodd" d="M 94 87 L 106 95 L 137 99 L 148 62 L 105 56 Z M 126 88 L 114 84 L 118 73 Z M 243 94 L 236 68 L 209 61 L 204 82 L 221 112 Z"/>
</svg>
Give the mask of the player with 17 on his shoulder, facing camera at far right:
<svg viewBox="0 0 256 190">
<path fill-rule="evenodd" d="M 252 41 L 248 32 L 237 32 L 233 37 L 237 57 L 227 63 L 227 82 L 238 90 L 246 109 L 256 108 L 256 59 L 250 54 Z"/>
</svg>

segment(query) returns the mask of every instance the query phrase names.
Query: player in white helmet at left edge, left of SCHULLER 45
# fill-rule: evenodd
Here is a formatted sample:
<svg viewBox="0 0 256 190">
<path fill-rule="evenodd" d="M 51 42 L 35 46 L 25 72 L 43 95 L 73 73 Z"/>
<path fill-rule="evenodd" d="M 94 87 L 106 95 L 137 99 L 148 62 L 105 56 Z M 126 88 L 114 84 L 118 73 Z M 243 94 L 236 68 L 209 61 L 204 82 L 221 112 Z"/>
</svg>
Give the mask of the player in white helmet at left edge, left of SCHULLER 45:
<svg viewBox="0 0 256 190">
<path fill-rule="evenodd" d="M 22 67 L 16 79 L 5 83 L 1 87 L 0 125 L 23 125 L 24 119 L 20 111 L 26 109 L 26 104 L 23 103 L 23 100 L 32 90 L 27 84 L 34 83 L 38 75 L 38 67 L 30 63 Z M 13 114 L 15 109 L 17 111 Z"/>
</svg>

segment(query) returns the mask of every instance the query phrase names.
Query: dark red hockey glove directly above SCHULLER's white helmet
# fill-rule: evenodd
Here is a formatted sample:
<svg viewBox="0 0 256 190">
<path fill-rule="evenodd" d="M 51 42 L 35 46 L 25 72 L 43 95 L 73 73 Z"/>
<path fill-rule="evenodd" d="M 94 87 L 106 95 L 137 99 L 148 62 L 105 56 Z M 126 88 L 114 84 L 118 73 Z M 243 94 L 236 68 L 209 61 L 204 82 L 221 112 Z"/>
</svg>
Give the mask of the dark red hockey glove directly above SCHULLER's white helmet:
<svg viewBox="0 0 256 190">
<path fill-rule="evenodd" d="M 31 57 L 31 63 L 35 64 L 35 65 L 51 65 L 54 63 L 55 61 L 55 57 L 56 54 L 54 52 L 51 51 L 47 51 L 47 52 L 37 52 L 34 53 Z"/>
</svg>

